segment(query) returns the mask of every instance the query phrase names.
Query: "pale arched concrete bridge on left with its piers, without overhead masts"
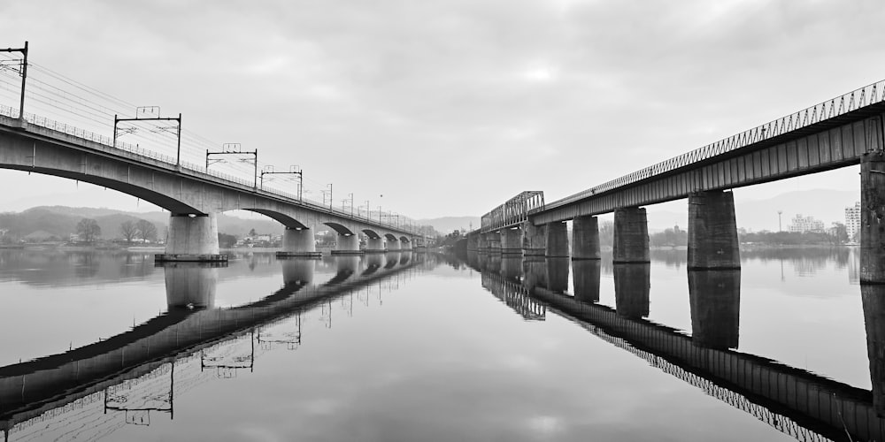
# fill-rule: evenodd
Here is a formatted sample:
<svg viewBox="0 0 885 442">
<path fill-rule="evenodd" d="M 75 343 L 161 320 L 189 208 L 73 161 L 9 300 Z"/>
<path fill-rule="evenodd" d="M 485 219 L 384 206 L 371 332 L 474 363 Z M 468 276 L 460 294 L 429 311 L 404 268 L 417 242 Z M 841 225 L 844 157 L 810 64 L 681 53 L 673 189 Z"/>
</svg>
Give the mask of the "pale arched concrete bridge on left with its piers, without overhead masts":
<svg viewBox="0 0 885 442">
<path fill-rule="evenodd" d="M 4 108 L 5 113 L 12 110 Z M 2 114 L 4 112 L 0 112 Z M 409 250 L 424 237 L 410 227 L 354 216 L 296 195 L 263 190 L 254 182 L 208 173 L 193 164 L 128 146 L 107 137 L 26 114 L 0 115 L 0 168 L 88 182 L 131 194 L 169 210 L 169 232 L 160 261 L 223 261 L 216 215 L 250 210 L 285 226 L 281 255 L 319 255 L 314 232 L 337 233 L 334 254 Z"/>
</svg>

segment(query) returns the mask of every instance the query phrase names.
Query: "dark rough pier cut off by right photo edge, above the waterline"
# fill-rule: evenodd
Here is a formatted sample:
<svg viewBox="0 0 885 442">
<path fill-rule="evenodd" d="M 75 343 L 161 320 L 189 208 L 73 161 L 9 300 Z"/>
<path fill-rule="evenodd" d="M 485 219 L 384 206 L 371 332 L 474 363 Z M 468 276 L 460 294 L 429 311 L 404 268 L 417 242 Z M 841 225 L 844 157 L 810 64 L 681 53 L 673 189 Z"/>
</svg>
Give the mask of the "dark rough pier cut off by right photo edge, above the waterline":
<svg viewBox="0 0 885 442">
<path fill-rule="evenodd" d="M 860 283 L 885 284 L 885 158 L 860 160 Z"/>
</svg>

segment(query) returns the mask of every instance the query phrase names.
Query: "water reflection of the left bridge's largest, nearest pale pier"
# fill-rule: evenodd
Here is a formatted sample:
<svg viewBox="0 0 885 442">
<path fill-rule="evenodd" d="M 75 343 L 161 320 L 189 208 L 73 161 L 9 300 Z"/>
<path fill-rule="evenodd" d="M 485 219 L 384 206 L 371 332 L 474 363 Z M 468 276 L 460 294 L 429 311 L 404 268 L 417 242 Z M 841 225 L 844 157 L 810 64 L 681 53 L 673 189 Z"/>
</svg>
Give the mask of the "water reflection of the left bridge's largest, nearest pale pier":
<svg viewBox="0 0 885 442">
<path fill-rule="evenodd" d="M 166 305 L 169 309 L 211 309 L 215 304 L 215 286 L 219 279 L 218 265 L 164 264 Z"/>
</svg>

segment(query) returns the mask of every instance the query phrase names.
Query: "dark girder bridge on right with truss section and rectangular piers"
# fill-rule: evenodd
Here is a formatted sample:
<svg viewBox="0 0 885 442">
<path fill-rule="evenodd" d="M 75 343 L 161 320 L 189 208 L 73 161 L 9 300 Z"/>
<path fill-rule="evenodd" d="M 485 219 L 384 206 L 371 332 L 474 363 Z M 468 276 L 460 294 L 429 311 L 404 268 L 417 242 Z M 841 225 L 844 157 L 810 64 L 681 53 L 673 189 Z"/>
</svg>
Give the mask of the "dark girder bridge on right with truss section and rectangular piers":
<svg viewBox="0 0 885 442">
<path fill-rule="evenodd" d="M 885 283 L 883 112 L 880 81 L 555 202 L 544 202 L 541 191 L 522 192 L 482 217 L 467 249 L 598 259 L 596 215 L 613 212 L 614 261 L 648 263 L 643 206 L 687 198 L 688 268 L 739 269 L 731 189 L 861 164 L 860 279 Z"/>
</svg>

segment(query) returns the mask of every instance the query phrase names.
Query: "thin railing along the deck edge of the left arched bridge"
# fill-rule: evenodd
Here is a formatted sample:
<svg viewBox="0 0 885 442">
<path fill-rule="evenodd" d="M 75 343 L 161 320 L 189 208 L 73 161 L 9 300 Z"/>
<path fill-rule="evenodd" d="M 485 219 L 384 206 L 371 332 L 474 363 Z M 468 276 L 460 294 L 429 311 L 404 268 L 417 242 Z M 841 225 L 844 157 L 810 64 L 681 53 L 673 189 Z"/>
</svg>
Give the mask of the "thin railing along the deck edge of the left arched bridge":
<svg viewBox="0 0 885 442">
<path fill-rule="evenodd" d="M 14 109 L 10 106 L 5 106 L 3 104 L 0 104 L 0 115 L 3 115 L 5 117 L 9 117 L 9 118 L 19 118 L 19 110 Z M 43 129 L 47 129 L 47 130 L 50 130 L 53 132 L 65 133 L 67 135 L 72 135 L 74 137 L 80 138 L 82 140 L 96 142 L 98 144 L 101 144 L 105 148 L 123 150 L 123 151 L 129 152 L 129 153 L 135 154 L 137 156 L 143 156 L 146 158 L 150 158 L 153 160 L 163 162 L 165 164 L 170 164 L 170 165 L 176 164 L 175 158 L 173 156 L 163 155 L 158 152 L 154 152 L 150 149 L 144 149 L 137 144 L 130 144 L 130 143 L 123 142 L 123 141 L 117 141 L 116 143 L 114 143 L 113 139 L 111 137 L 104 136 L 99 133 L 89 132 L 87 130 L 83 130 L 83 129 L 76 127 L 76 126 L 71 126 L 71 125 L 68 125 L 65 123 L 60 123 L 60 122 L 52 120 L 50 118 L 44 118 L 39 115 L 25 112 L 25 120 L 27 121 L 27 123 L 29 125 L 39 126 L 39 127 L 42 127 Z M 211 175 L 214 178 L 225 180 L 225 181 L 235 183 L 235 184 L 238 184 L 241 186 L 246 186 L 246 187 L 254 187 L 255 186 L 255 182 L 250 181 L 249 179 L 242 179 L 241 177 L 236 177 L 234 175 L 230 175 L 230 174 L 223 173 L 220 171 L 206 169 L 202 165 L 190 163 L 187 161 L 181 162 L 181 168 L 186 169 L 188 171 L 196 171 L 198 173 L 204 173 L 207 175 Z M 327 206 L 325 203 L 321 203 L 321 202 L 311 200 L 308 198 L 304 198 L 304 197 L 299 197 L 296 194 L 289 194 L 288 192 L 284 192 L 284 191 L 281 191 L 281 190 L 273 188 L 273 187 L 262 187 L 261 191 L 266 192 L 268 194 L 273 194 L 275 196 L 282 196 L 284 198 L 289 199 L 290 202 L 292 202 L 292 203 L 307 206 L 307 207 L 311 208 L 312 210 L 332 213 L 332 214 L 338 215 L 340 217 L 358 218 L 358 219 L 365 220 L 366 222 L 369 222 L 369 223 L 372 223 L 375 225 L 383 225 L 385 227 L 389 227 L 390 229 L 410 232 L 411 234 L 414 234 L 414 235 L 419 234 L 418 232 L 407 231 L 398 225 L 392 225 L 389 223 L 383 223 L 381 221 L 375 221 L 371 217 L 368 217 L 368 216 L 363 217 L 360 215 L 351 215 L 351 213 L 349 211 L 331 208 L 331 207 Z"/>
</svg>

